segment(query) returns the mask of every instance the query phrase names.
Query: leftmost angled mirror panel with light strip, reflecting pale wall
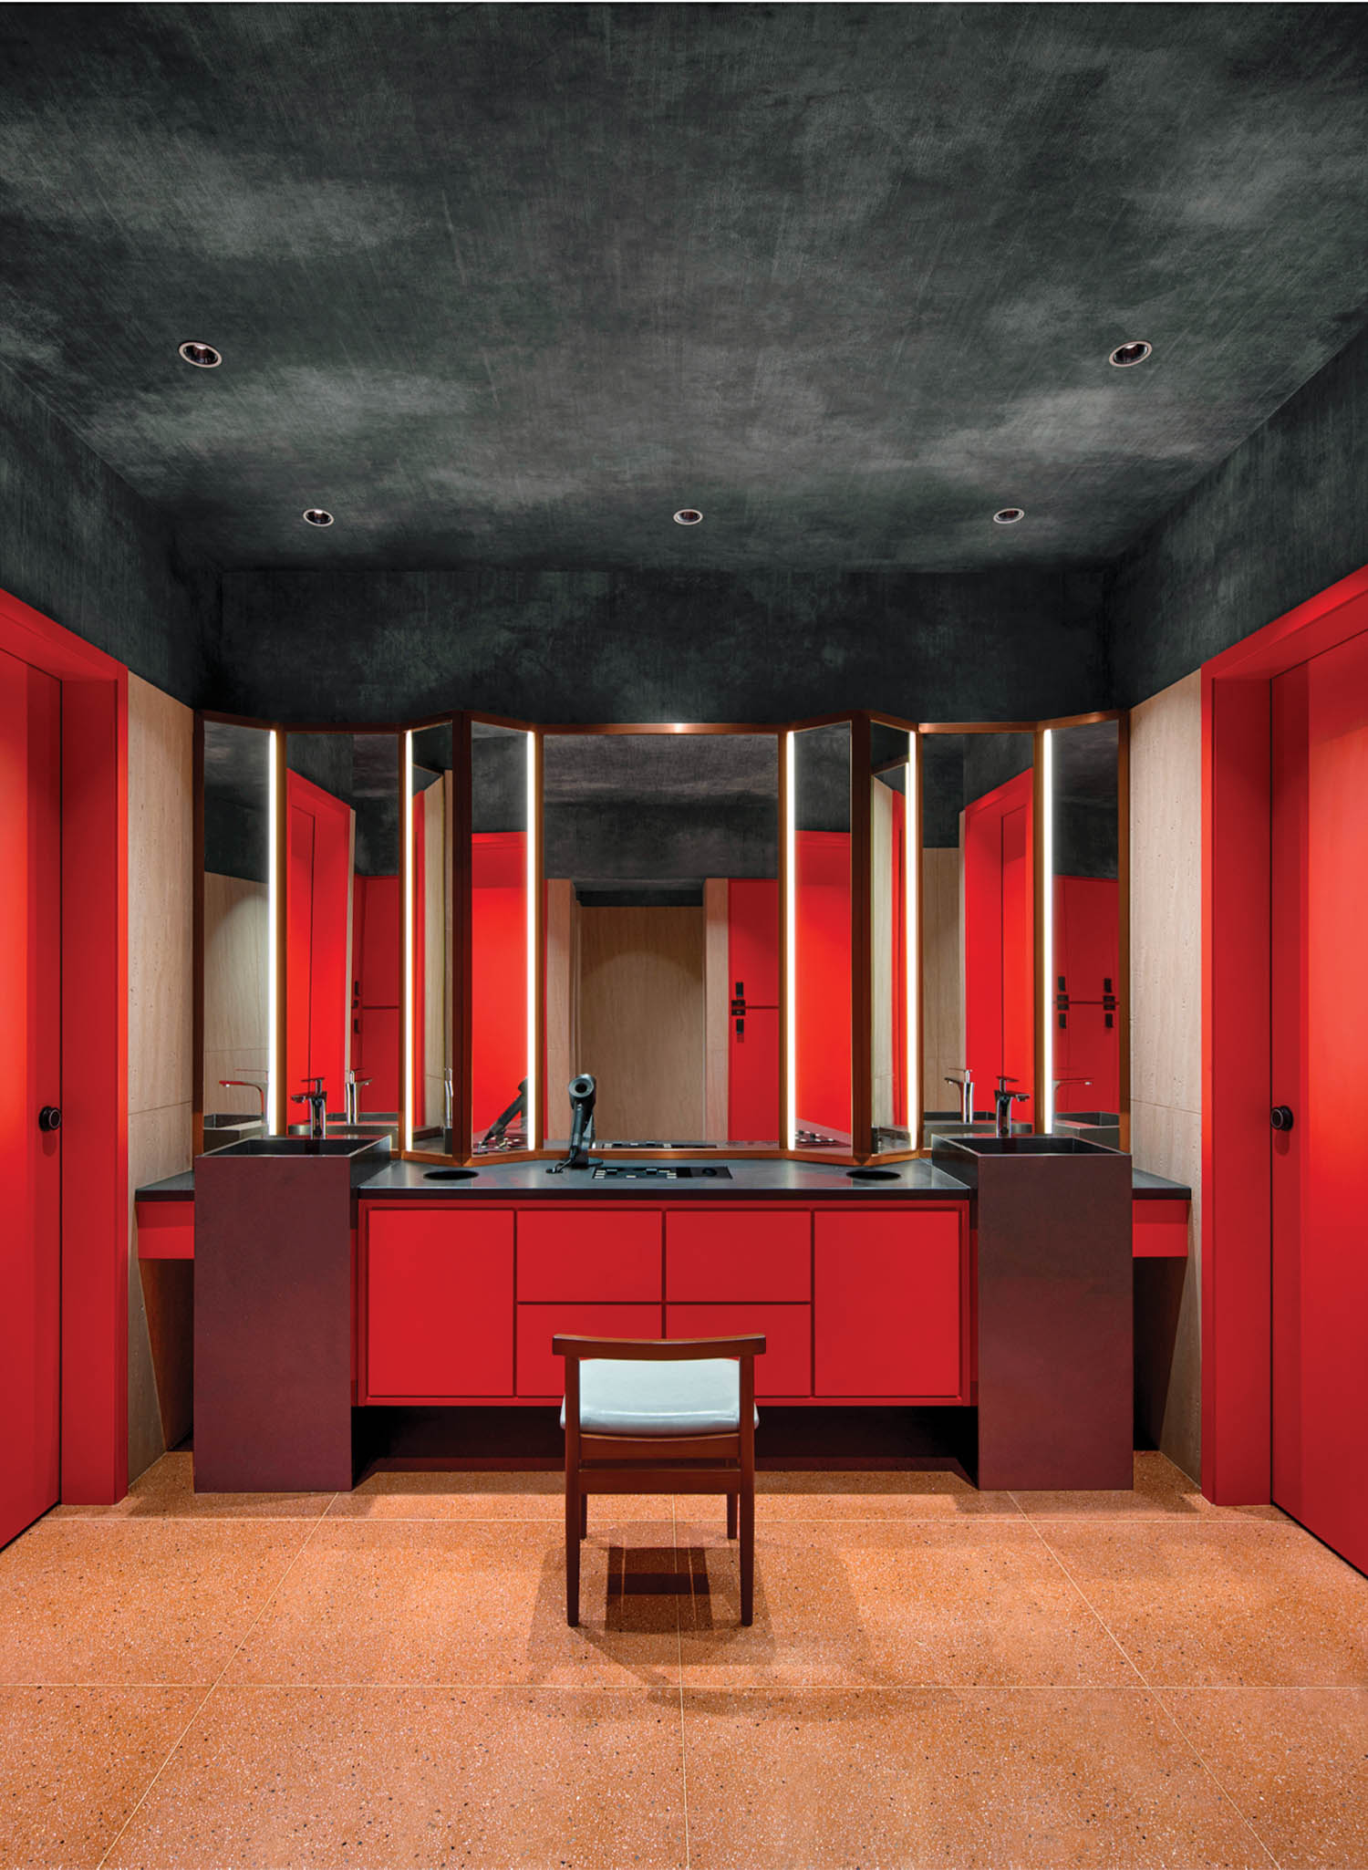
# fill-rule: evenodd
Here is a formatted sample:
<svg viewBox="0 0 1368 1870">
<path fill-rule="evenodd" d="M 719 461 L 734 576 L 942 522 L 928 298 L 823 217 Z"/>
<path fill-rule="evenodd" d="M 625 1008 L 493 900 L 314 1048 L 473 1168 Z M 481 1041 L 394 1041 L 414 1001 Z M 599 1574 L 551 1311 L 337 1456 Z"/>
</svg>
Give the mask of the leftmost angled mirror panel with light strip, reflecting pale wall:
<svg viewBox="0 0 1368 1870">
<path fill-rule="evenodd" d="M 275 733 L 204 720 L 202 1113 L 206 1148 L 275 1111 Z"/>
</svg>

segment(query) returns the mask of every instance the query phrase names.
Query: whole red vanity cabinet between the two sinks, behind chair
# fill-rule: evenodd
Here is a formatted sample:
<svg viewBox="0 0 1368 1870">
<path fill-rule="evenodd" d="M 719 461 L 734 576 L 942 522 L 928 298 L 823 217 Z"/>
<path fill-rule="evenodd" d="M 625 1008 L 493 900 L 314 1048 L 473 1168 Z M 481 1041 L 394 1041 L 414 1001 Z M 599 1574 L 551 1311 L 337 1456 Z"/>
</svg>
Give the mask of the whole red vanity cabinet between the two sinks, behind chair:
<svg viewBox="0 0 1368 1870">
<path fill-rule="evenodd" d="M 968 1204 L 361 1202 L 364 1402 L 557 1402 L 557 1331 L 762 1331 L 757 1395 L 968 1401 Z"/>
</svg>

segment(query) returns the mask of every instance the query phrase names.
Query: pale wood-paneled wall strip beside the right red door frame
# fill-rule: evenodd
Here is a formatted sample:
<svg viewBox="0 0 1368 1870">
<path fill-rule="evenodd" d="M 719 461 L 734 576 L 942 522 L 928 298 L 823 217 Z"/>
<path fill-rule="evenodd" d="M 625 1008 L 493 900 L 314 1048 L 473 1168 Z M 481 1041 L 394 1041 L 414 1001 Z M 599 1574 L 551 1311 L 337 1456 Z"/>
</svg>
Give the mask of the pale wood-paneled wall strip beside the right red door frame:
<svg viewBox="0 0 1368 1870">
<path fill-rule="evenodd" d="M 1187 1260 L 1136 1262 L 1136 1431 L 1202 1462 L 1202 675 L 1131 711 L 1131 1150 L 1192 1187 Z"/>
</svg>

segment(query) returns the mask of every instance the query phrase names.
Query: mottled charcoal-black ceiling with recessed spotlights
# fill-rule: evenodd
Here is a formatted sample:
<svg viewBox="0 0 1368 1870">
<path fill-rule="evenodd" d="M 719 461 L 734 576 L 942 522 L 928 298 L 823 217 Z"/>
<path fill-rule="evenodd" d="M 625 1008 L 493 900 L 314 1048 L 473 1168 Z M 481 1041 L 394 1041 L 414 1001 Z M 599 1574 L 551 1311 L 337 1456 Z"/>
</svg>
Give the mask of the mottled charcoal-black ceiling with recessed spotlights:
<svg viewBox="0 0 1368 1870">
<path fill-rule="evenodd" d="M 1097 563 L 1368 320 L 1366 131 L 1353 6 L 6 6 L 0 363 L 222 565 Z"/>
</svg>

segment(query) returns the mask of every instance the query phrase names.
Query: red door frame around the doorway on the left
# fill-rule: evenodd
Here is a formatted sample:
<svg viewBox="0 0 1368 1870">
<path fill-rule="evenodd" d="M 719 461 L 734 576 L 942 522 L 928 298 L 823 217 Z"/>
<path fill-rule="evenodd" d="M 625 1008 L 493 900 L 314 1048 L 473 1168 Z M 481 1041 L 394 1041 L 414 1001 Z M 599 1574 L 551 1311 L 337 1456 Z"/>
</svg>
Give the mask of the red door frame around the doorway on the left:
<svg viewBox="0 0 1368 1870">
<path fill-rule="evenodd" d="M 62 683 L 62 1500 L 129 1483 L 129 671 L 0 591 Z"/>
</svg>

